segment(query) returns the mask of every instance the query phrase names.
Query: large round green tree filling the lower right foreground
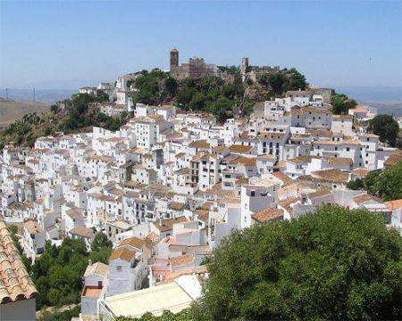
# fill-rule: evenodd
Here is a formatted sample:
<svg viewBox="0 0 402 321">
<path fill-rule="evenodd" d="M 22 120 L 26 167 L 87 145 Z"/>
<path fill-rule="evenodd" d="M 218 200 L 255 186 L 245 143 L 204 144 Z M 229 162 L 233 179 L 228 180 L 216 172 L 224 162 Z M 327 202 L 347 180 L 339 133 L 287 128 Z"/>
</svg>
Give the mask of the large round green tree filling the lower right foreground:
<svg viewBox="0 0 402 321">
<path fill-rule="evenodd" d="M 214 251 L 204 320 L 399 320 L 402 237 L 381 216 L 325 206 L 233 232 Z"/>
</svg>

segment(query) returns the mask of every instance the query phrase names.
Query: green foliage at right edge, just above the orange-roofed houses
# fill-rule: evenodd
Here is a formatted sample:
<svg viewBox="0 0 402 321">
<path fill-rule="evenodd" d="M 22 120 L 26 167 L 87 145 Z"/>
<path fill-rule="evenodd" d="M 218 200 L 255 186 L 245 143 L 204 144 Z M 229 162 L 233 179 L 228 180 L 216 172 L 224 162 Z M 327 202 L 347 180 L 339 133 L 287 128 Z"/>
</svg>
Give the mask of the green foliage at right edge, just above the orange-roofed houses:
<svg viewBox="0 0 402 321">
<path fill-rule="evenodd" d="M 352 190 L 364 190 L 383 201 L 402 199 L 402 161 L 382 171 L 371 171 L 363 179 L 348 183 Z"/>
</svg>

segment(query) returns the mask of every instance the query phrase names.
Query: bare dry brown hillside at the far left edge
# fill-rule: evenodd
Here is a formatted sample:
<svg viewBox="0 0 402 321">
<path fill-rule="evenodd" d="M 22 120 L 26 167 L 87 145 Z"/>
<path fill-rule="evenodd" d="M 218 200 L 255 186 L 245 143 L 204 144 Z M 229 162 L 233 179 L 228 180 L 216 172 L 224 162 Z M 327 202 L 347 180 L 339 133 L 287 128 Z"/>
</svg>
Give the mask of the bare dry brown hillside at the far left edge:
<svg viewBox="0 0 402 321">
<path fill-rule="evenodd" d="M 47 111 L 49 111 L 49 106 L 46 103 L 0 98 L 0 128 L 4 128 L 13 123 L 13 121 L 21 119 L 25 114 L 36 112 L 40 115 Z"/>
</svg>

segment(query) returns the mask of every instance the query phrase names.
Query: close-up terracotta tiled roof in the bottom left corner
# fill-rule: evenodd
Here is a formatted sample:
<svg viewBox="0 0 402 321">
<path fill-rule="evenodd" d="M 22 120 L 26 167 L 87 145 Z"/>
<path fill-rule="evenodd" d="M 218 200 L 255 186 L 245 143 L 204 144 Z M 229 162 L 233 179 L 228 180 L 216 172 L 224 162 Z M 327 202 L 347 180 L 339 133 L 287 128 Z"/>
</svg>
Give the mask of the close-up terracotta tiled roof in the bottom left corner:
<svg viewBox="0 0 402 321">
<path fill-rule="evenodd" d="M 38 295 L 21 255 L 3 220 L 0 220 L 0 303 Z"/>
</svg>

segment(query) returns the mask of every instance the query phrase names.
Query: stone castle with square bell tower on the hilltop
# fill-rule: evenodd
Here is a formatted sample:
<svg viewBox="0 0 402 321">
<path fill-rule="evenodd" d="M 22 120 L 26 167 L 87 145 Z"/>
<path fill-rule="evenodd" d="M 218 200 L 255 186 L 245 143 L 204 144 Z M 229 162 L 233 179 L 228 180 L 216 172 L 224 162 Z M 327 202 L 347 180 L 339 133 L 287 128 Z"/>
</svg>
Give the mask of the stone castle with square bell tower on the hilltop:
<svg viewBox="0 0 402 321">
<path fill-rule="evenodd" d="M 205 63 L 203 58 L 190 58 L 188 63 L 179 65 L 179 51 L 171 50 L 171 76 L 176 79 L 193 78 L 199 79 L 205 76 L 216 76 L 216 65 Z"/>
</svg>

